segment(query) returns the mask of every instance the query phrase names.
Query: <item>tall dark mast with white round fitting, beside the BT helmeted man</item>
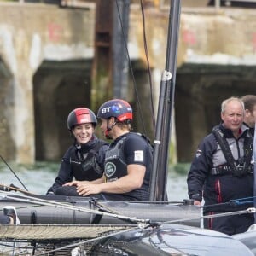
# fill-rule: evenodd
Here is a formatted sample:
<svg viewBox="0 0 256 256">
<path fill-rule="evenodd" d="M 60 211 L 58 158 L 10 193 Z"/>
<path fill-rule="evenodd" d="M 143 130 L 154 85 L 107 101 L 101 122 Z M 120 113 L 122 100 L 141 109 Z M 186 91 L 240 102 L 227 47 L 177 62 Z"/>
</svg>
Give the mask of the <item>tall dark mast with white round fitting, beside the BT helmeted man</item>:
<svg viewBox="0 0 256 256">
<path fill-rule="evenodd" d="M 166 46 L 166 70 L 163 72 L 160 82 L 160 96 L 154 139 L 153 170 L 150 179 L 149 201 L 167 200 L 166 183 L 176 82 L 180 11 L 181 0 L 170 0 L 170 15 Z"/>
</svg>

